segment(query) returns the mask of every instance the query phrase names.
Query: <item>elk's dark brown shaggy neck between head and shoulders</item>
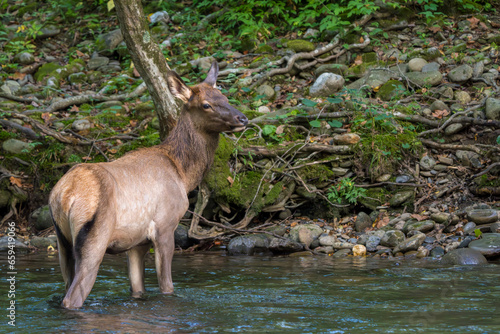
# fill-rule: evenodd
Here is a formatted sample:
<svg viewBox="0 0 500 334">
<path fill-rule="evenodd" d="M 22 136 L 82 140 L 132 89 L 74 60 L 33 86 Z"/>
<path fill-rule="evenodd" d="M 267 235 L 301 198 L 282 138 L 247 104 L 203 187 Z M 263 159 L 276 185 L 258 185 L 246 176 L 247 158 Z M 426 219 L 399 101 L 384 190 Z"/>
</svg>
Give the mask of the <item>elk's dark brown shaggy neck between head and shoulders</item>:
<svg viewBox="0 0 500 334">
<path fill-rule="evenodd" d="M 208 172 L 218 144 L 218 133 L 201 131 L 189 114 L 183 113 L 161 146 L 176 165 L 189 192 L 200 184 Z"/>
</svg>

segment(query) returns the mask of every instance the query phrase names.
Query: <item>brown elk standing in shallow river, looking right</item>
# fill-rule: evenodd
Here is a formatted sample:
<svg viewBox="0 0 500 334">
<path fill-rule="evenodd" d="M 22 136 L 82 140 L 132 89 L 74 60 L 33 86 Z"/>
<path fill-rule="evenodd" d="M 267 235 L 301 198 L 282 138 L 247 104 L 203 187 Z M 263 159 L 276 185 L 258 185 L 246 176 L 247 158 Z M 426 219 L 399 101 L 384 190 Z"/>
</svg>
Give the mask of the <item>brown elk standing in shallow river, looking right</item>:
<svg viewBox="0 0 500 334">
<path fill-rule="evenodd" d="M 151 245 L 160 291 L 173 292 L 174 231 L 188 209 L 188 193 L 210 168 L 222 132 L 242 131 L 248 119 L 207 78 L 188 87 L 172 71 L 168 88 L 184 102 L 179 119 L 159 145 L 112 161 L 79 164 L 49 196 L 66 284 L 62 306 L 79 308 L 95 283 L 105 253 L 127 252 L 133 297 L 144 292 L 144 259 Z"/>
</svg>

